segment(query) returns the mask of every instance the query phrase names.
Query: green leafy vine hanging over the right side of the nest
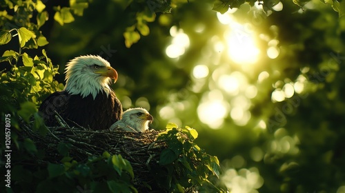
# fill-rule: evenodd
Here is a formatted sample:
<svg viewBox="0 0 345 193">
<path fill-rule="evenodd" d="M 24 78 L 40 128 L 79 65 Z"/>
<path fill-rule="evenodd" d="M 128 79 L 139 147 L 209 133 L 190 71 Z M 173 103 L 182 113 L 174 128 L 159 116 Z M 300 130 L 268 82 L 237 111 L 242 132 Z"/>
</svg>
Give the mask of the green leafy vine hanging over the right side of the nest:
<svg viewBox="0 0 345 193">
<path fill-rule="evenodd" d="M 157 141 L 165 141 L 168 148 L 160 154 L 161 167 L 154 168 L 153 172 L 155 180 L 168 192 L 225 192 L 210 181 L 212 177 L 219 178 L 219 161 L 194 143 L 197 136 L 193 128 L 178 128 L 175 123 L 168 123 L 166 131 L 157 137 Z"/>
</svg>

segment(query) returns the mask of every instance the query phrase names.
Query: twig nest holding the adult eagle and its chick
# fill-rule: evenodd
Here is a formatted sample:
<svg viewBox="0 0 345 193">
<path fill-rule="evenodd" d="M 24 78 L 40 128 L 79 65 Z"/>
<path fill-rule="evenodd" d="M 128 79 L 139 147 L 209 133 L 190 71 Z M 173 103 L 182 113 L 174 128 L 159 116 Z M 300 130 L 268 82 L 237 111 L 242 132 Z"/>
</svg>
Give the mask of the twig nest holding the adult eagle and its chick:
<svg viewBox="0 0 345 193">
<path fill-rule="evenodd" d="M 63 156 L 57 146 L 61 142 L 71 145 L 69 156 L 76 161 L 85 161 L 88 156 L 98 156 L 103 152 L 121 154 L 132 165 L 135 174 L 133 183 L 139 192 L 147 188 L 143 182 L 149 184 L 152 181 L 150 168 L 158 165 L 159 154 L 167 147 L 164 141 L 156 141 L 159 132 L 155 130 L 139 133 L 61 126 L 50 127 L 48 134 L 41 136 L 28 125 L 21 125 L 21 128 L 21 137 L 30 138 L 37 149 L 46 152 L 43 160 L 34 160 L 38 164 L 59 163 Z"/>
</svg>

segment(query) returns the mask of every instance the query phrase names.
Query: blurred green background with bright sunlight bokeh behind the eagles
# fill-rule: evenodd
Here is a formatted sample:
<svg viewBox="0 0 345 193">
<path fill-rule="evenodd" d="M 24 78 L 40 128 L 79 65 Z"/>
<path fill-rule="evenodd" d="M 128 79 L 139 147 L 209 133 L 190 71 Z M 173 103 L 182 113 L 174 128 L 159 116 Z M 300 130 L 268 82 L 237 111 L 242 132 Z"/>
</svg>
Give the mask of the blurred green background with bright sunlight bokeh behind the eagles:
<svg viewBox="0 0 345 193">
<path fill-rule="evenodd" d="M 175 1 L 170 13 L 138 15 L 126 1 L 93 1 L 42 30 L 59 82 L 74 57 L 107 59 L 124 110 L 146 108 L 155 130 L 195 128 L 232 192 L 344 193 L 345 17 L 318 0 L 283 3 L 221 14 Z"/>
</svg>

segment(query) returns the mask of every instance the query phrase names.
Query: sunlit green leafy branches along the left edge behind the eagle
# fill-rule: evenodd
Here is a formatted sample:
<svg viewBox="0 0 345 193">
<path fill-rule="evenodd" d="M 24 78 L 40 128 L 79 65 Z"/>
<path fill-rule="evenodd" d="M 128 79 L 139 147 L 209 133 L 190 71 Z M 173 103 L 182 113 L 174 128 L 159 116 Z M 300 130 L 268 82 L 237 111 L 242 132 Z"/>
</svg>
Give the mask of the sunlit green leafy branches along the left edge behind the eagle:
<svg viewBox="0 0 345 193">
<path fill-rule="evenodd" d="M 37 105 L 41 103 L 47 94 L 61 90 L 62 84 L 54 81 L 55 75 L 58 73 L 59 66 L 52 65 L 52 61 L 48 58 L 46 50 L 41 50 L 41 56 L 30 56 L 25 50 L 37 49 L 48 44 L 46 37 L 43 36 L 39 28 L 48 19 L 48 14 L 44 11 L 44 4 L 41 1 L 3 1 L 1 7 L 7 6 L 7 10 L 3 10 L 1 26 L 3 26 L 0 34 L 0 45 L 4 46 L 10 41 L 15 42 L 12 37 L 18 37 L 18 51 L 6 50 L 3 52 L 0 62 L 8 62 L 10 69 L 1 72 L 0 89 L 1 104 L 3 108 L 1 116 L 4 113 L 12 112 L 15 118 L 20 115 L 24 120 L 28 121 L 29 117 L 37 112 Z M 15 10 L 15 11 L 14 11 Z M 31 18 L 34 12 L 37 12 L 37 23 L 32 23 Z M 28 108 L 28 107 L 31 108 Z M 17 111 L 19 109 L 19 111 Z M 41 119 L 37 114 L 34 115 L 36 125 L 39 129 Z M 18 127 L 13 119 L 13 124 Z"/>
</svg>

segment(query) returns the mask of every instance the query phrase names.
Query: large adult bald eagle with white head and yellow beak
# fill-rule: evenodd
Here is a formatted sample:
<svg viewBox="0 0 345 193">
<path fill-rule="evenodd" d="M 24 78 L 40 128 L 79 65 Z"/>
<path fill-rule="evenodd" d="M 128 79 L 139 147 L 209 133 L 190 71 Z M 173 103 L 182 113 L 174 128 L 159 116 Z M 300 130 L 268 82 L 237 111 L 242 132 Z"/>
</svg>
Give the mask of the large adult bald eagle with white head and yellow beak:
<svg viewBox="0 0 345 193">
<path fill-rule="evenodd" d="M 122 105 L 109 87 L 117 72 L 105 59 L 86 55 L 66 65 L 66 85 L 41 103 L 39 112 L 47 126 L 57 126 L 55 115 L 72 126 L 92 130 L 108 129 L 121 119 Z"/>
</svg>

